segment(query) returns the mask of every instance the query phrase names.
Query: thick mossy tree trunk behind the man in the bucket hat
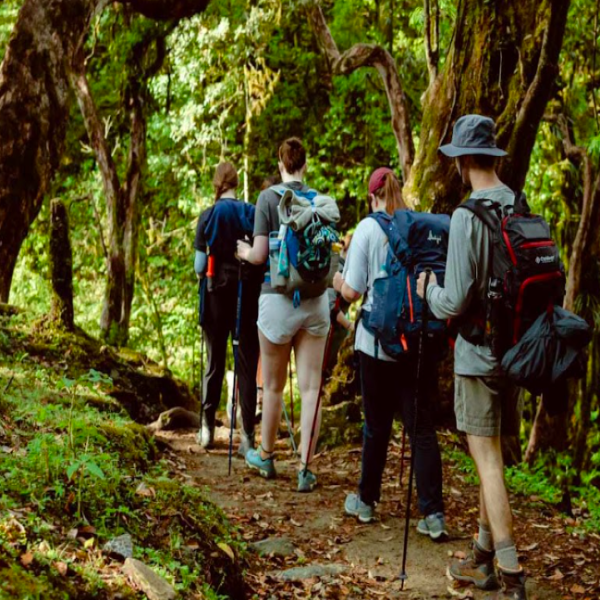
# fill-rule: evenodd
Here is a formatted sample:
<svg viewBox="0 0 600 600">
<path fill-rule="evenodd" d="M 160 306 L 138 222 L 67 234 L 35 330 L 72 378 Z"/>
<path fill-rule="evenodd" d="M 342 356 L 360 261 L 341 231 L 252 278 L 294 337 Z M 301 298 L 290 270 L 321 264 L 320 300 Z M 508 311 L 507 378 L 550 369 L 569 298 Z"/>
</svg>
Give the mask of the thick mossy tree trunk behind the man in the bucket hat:
<svg viewBox="0 0 600 600">
<path fill-rule="evenodd" d="M 446 62 L 425 95 L 419 150 L 404 188 L 411 205 L 450 212 L 462 199 L 453 161 L 438 148 L 469 113 L 496 120 L 498 144 L 509 152 L 500 176 L 523 186 L 558 73 L 568 8 L 569 0 L 460 0 Z"/>
</svg>

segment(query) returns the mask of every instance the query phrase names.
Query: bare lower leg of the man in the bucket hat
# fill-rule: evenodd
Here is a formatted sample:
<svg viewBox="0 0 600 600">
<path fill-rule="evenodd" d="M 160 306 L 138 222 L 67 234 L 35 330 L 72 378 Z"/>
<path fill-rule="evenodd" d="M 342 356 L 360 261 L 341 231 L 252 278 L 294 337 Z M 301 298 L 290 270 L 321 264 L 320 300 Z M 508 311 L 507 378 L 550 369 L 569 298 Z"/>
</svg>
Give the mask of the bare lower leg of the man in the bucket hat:
<svg viewBox="0 0 600 600">
<path fill-rule="evenodd" d="M 481 482 L 480 518 L 489 523 L 495 544 L 512 540 L 512 512 L 504 482 L 500 437 L 467 435 L 467 441 Z"/>
</svg>

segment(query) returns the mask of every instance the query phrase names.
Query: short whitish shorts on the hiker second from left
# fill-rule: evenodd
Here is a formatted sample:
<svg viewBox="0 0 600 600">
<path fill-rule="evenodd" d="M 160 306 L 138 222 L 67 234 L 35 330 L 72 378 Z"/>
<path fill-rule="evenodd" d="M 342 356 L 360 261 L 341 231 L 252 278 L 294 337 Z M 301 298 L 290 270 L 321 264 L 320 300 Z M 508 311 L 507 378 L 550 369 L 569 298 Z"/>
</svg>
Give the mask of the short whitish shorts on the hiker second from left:
<svg viewBox="0 0 600 600">
<path fill-rule="evenodd" d="M 301 329 L 315 337 L 325 337 L 329 324 L 326 293 L 302 300 L 298 308 L 283 294 L 261 294 L 258 301 L 258 328 L 272 344 L 291 342 Z"/>
</svg>

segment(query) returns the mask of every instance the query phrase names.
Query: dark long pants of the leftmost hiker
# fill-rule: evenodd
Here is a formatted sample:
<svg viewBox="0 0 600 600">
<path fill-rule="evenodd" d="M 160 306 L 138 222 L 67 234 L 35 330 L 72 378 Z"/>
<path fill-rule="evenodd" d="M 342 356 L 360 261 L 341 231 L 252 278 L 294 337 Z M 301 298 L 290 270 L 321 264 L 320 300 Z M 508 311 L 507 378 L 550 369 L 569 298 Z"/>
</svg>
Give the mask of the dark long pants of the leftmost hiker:
<svg viewBox="0 0 600 600">
<path fill-rule="evenodd" d="M 260 285 L 244 281 L 242 284 L 242 313 L 240 321 L 240 343 L 237 361 L 237 381 L 242 408 L 244 431 L 254 431 L 256 418 L 256 369 L 258 367 L 258 296 Z M 204 374 L 203 406 L 210 425 L 215 422 L 215 414 L 221 400 L 227 342 L 235 334 L 238 285 L 232 281 L 224 287 L 204 297 L 204 335 L 207 351 L 207 364 Z"/>
</svg>

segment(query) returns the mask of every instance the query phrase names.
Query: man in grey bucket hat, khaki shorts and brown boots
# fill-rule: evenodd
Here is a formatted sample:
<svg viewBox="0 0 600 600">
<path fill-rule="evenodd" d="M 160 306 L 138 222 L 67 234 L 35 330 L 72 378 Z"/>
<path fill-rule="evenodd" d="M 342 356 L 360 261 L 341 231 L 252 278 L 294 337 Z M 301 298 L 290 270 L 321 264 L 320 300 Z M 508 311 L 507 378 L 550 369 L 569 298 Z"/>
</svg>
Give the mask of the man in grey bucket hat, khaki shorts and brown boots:
<svg viewBox="0 0 600 600">
<path fill-rule="evenodd" d="M 497 159 L 507 153 L 496 146 L 492 119 L 461 117 L 454 125 L 452 142 L 439 150 L 454 159 L 463 183 L 472 189 L 471 198 L 494 201 L 502 213 L 512 207 L 515 194 L 496 173 Z M 483 338 L 473 337 L 477 323 L 486 321 L 491 239 L 491 230 L 471 210 L 457 209 L 450 226 L 444 287 L 432 275 L 427 288 L 427 301 L 436 317 L 460 318 L 454 349 L 456 422 L 459 431 L 467 434 L 481 482 L 479 533 L 470 556 L 452 564 L 450 574 L 480 589 L 494 589 L 500 583 L 502 590 L 488 596 L 490 600 L 524 600 L 525 575 L 515 547 L 501 449 L 501 435 L 519 435 L 521 394 L 501 375 L 498 360 Z M 417 288 L 421 297 L 423 289 L 421 275 Z M 510 323 L 500 326 L 508 329 Z"/>
</svg>

